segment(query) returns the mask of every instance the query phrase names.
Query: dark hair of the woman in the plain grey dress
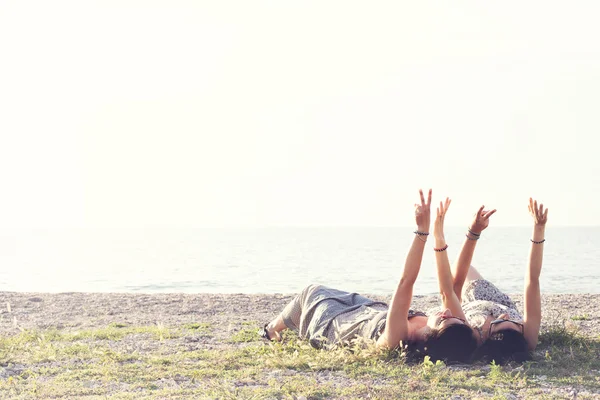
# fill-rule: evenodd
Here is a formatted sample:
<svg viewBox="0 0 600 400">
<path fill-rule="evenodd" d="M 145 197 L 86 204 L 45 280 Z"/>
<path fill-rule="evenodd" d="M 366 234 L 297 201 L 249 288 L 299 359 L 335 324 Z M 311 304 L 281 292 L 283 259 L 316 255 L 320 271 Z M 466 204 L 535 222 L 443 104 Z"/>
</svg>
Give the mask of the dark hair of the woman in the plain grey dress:
<svg viewBox="0 0 600 400">
<path fill-rule="evenodd" d="M 433 362 L 441 360 L 446 364 L 470 362 L 476 348 L 473 330 L 463 324 L 433 329 L 424 342 L 411 342 L 405 346 L 407 358 L 411 361 L 421 361 L 424 356 L 429 356 Z"/>
</svg>

